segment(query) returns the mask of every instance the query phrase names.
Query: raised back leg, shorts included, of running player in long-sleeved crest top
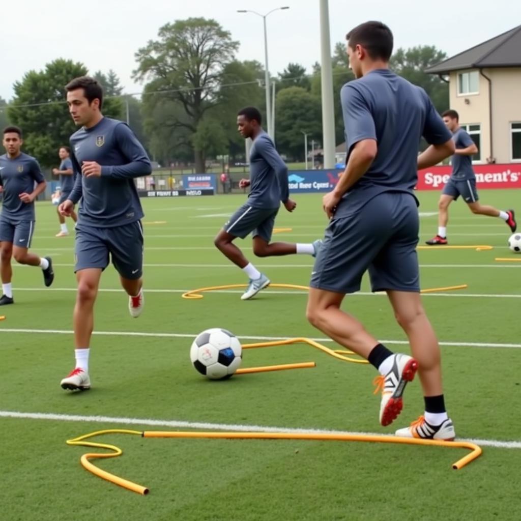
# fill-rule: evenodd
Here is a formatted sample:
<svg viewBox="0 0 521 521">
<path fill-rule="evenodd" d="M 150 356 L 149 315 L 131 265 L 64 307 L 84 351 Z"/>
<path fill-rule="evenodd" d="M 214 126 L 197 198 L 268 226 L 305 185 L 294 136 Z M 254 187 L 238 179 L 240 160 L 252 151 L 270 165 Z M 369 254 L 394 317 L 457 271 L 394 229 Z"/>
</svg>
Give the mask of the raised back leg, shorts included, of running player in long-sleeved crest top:
<svg viewBox="0 0 521 521">
<path fill-rule="evenodd" d="M 107 230 L 109 250 L 121 287 L 129 296 L 129 313 L 138 318 L 143 312 L 143 228 L 140 221 Z"/>
</svg>

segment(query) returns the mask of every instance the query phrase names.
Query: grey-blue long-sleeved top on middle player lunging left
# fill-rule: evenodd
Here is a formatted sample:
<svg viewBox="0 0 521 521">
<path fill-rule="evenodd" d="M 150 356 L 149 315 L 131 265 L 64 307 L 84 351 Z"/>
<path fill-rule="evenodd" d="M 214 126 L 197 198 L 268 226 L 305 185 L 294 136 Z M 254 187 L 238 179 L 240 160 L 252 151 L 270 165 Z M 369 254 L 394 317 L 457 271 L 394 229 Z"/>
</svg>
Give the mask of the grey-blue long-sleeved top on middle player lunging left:
<svg viewBox="0 0 521 521">
<path fill-rule="evenodd" d="M 278 208 L 288 200 L 288 167 L 266 132 L 257 135 L 250 149 L 250 181 L 250 206 Z"/>
</svg>

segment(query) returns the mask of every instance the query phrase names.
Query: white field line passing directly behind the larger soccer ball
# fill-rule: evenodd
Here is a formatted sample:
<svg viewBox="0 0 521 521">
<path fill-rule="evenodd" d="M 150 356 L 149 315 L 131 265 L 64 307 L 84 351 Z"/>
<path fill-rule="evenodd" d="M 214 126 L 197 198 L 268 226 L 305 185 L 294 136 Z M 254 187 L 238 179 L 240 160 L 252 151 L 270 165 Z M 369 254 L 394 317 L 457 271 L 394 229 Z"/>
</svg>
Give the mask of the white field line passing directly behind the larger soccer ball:
<svg viewBox="0 0 521 521">
<path fill-rule="evenodd" d="M 33 333 L 33 334 L 73 334 L 72 330 L 67 329 L 25 329 L 25 328 L 3 328 L 0 333 Z M 195 338 L 198 333 L 148 333 L 145 331 L 93 331 L 94 335 L 102 337 L 151 337 L 151 338 Z M 241 340 L 286 340 L 288 337 L 259 337 L 238 334 Z M 315 342 L 332 342 L 330 338 L 311 338 Z M 384 344 L 408 345 L 407 340 L 381 340 Z M 489 348 L 489 349 L 521 349 L 521 344 L 500 344 L 485 342 L 440 342 L 442 346 L 456 346 L 469 348 Z"/>
</svg>

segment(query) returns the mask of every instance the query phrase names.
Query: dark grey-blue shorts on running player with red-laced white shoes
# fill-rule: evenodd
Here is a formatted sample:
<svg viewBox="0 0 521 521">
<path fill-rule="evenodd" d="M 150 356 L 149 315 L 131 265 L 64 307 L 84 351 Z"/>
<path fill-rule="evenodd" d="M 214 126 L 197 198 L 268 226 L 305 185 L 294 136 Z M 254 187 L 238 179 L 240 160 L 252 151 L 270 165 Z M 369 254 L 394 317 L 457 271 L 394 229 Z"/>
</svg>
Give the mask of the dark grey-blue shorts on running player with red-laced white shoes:
<svg viewBox="0 0 521 521">
<path fill-rule="evenodd" d="M 112 263 L 121 277 L 129 280 L 143 275 L 143 227 L 134 221 L 117 228 L 76 225 L 75 272 L 87 268 L 104 270 Z"/>
</svg>

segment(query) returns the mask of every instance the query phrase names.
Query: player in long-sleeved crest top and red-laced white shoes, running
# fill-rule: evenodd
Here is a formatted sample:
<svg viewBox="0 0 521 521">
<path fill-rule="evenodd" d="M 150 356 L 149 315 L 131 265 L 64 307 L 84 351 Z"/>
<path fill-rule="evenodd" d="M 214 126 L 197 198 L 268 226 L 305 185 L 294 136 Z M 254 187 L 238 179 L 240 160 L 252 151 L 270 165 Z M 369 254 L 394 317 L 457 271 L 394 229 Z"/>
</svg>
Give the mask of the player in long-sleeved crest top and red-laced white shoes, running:
<svg viewBox="0 0 521 521">
<path fill-rule="evenodd" d="M 143 210 L 134 178 L 151 173 L 150 159 L 130 128 L 103 117 L 103 90 L 89 77 L 65 87 L 72 119 L 81 127 L 71 135 L 71 159 L 78 175 L 61 215 L 70 216 L 82 198 L 76 226 L 78 293 L 73 314 L 76 366 L 61 380 L 70 390 L 90 389 L 89 354 L 94 301 L 109 255 L 129 295 L 129 311 L 143 311 Z"/>
</svg>

